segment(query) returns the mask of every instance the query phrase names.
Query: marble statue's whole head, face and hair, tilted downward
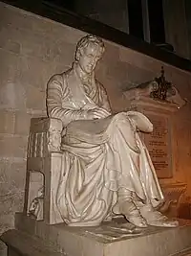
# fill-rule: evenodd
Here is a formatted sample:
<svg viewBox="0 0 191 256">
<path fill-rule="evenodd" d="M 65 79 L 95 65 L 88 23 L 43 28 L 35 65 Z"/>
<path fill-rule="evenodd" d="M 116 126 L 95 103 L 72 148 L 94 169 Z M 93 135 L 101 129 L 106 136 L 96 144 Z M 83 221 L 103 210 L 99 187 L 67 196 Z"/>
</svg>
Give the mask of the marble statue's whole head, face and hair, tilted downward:
<svg viewBox="0 0 191 256">
<path fill-rule="evenodd" d="M 75 62 L 85 73 L 91 74 L 95 70 L 96 62 L 102 57 L 104 50 L 104 43 L 101 38 L 96 35 L 86 35 L 77 43 Z"/>
</svg>

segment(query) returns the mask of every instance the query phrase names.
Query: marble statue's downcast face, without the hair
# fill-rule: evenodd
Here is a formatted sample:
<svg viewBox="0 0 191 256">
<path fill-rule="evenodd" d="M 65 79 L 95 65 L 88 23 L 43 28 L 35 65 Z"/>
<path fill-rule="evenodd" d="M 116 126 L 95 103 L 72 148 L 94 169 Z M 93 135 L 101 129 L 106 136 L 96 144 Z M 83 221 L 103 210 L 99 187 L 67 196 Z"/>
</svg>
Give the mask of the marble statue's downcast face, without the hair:
<svg viewBox="0 0 191 256">
<path fill-rule="evenodd" d="M 78 64 L 81 69 L 87 73 L 91 74 L 96 68 L 96 62 L 101 58 L 102 52 L 100 47 L 96 44 L 90 43 L 88 47 L 86 47 L 78 60 Z"/>
</svg>

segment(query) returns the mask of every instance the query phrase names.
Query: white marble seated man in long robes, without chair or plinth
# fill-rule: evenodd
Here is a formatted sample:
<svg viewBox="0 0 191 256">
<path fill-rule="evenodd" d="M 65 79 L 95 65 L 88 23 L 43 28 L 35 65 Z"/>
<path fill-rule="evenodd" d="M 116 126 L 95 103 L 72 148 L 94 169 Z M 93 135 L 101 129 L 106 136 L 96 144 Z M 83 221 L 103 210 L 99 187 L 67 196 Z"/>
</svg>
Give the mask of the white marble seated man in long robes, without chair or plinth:
<svg viewBox="0 0 191 256">
<path fill-rule="evenodd" d="M 163 202 L 159 180 L 138 132 L 153 125 L 136 111 L 112 114 L 95 78 L 103 41 L 86 35 L 74 63 L 48 82 L 49 117 L 62 121 L 63 164 L 56 203 L 67 224 L 98 225 L 123 215 L 138 227 L 176 226 L 156 207 Z"/>
</svg>

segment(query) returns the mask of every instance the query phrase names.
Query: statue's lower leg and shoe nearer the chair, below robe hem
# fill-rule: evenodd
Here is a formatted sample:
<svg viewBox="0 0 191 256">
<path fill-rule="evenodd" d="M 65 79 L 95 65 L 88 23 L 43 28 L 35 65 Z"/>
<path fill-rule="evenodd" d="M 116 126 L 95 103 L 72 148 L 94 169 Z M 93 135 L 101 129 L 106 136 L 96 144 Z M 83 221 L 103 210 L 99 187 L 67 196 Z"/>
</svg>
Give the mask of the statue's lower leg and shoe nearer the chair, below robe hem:
<svg viewBox="0 0 191 256">
<path fill-rule="evenodd" d="M 141 217 L 138 207 L 133 201 L 133 192 L 119 188 L 117 192 L 117 204 L 120 214 L 124 215 L 127 221 L 138 227 L 147 227 L 146 221 Z"/>
</svg>

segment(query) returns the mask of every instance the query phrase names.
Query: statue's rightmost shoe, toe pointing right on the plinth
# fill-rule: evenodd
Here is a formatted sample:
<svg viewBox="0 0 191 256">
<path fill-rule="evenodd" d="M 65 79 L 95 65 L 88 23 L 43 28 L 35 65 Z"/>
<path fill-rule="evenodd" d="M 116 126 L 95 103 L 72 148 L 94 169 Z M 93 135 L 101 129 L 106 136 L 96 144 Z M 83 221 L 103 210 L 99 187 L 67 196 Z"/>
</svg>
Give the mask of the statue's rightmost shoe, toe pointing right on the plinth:
<svg viewBox="0 0 191 256">
<path fill-rule="evenodd" d="M 153 209 L 152 206 L 143 206 L 142 209 L 140 209 L 140 214 L 149 225 L 163 227 L 176 227 L 179 225 L 179 221 L 168 219 L 159 211 Z"/>
</svg>

